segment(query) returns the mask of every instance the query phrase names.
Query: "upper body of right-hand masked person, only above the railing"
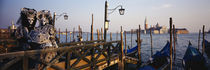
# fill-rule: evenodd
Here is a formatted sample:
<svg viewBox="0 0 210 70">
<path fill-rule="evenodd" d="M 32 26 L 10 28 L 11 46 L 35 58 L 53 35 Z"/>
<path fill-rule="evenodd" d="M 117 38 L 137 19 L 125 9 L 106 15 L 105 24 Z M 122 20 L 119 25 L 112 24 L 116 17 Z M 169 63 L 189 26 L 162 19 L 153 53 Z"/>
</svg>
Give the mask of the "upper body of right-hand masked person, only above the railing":
<svg viewBox="0 0 210 70">
<path fill-rule="evenodd" d="M 55 28 L 52 25 L 50 11 L 39 11 L 37 19 L 39 26 L 29 34 L 31 42 L 34 43 L 33 48 L 58 47 L 55 41 Z"/>
</svg>

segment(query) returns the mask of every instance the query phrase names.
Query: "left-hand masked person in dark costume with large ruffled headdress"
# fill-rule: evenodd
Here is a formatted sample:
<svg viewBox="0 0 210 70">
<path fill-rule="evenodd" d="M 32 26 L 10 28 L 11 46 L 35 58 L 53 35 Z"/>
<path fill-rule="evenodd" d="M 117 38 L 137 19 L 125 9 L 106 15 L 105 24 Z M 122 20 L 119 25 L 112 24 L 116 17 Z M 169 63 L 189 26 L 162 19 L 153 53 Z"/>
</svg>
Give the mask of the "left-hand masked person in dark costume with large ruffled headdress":
<svg viewBox="0 0 210 70">
<path fill-rule="evenodd" d="M 19 25 L 15 37 L 18 40 L 18 46 L 21 50 L 27 50 L 30 48 L 28 44 L 28 33 L 34 30 L 36 25 L 36 10 L 29 8 L 22 8 L 20 13 L 20 18 L 17 21 Z"/>
</svg>

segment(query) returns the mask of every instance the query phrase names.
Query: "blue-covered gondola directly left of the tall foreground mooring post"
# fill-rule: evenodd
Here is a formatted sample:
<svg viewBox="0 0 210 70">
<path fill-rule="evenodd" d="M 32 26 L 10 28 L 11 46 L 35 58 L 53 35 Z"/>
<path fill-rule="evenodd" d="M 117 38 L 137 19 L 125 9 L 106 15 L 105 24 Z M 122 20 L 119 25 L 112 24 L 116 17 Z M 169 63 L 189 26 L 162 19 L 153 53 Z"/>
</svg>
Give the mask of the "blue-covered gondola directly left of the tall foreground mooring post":
<svg viewBox="0 0 210 70">
<path fill-rule="evenodd" d="M 170 59 L 170 42 L 168 41 L 166 45 L 161 49 L 161 51 L 156 52 L 148 64 L 139 68 L 138 70 L 162 70 L 169 65 Z"/>
</svg>

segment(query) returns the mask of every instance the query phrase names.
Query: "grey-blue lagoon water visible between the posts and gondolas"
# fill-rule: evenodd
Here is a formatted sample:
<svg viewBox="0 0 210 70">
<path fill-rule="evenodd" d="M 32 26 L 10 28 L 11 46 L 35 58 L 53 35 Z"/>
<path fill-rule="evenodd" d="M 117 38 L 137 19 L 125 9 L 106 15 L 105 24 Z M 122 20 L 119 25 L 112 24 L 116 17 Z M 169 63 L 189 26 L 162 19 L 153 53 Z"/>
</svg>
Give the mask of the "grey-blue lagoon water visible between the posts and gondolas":
<svg viewBox="0 0 210 70">
<path fill-rule="evenodd" d="M 110 34 L 107 34 L 107 40 L 110 40 Z M 68 35 L 69 36 L 69 35 Z M 77 35 L 75 35 L 76 38 Z M 90 34 L 88 35 L 90 37 Z M 131 47 L 131 34 L 127 34 L 127 46 Z M 155 54 L 157 51 L 160 51 L 167 41 L 170 39 L 169 34 L 153 34 L 153 54 Z M 116 40 L 117 34 L 112 34 L 112 40 Z M 136 46 L 136 34 L 133 34 L 132 36 L 132 47 Z M 201 43 L 202 43 L 202 35 L 200 37 L 200 51 L 202 50 L 201 48 Z M 73 38 L 72 38 L 73 39 Z M 86 41 L 87 39 L 87 33 L 83 34 L 83 39 Z M 90 38 L 88 38 L 90 40 Z M 146 62 L 149 60 L 151 56 L 151 45 L 150 45 L 150 35 L 149 34 L 142 34 L 141 39 L 143 40 L 142 45 L 141 45 L 141 56 L 142 56 L 142 61 Z M 210 41 L 210 34 L 206 34 L 205 39 Z M 65 35 L 61 35 L 61 42 L 65 42 L 66 38 Z M 70 38 L 68 37 L 68 42 Z M 94 34 L 94 40 L 97 40 L 97 35 Z M 120 40 L 120 34 L 118 34 L 118 40 Z M 198 47 L 198 34 L 197 33 L 191 33 L 191 34 L 179 34 L 178 39 L 177 39 L 177 44 L 176 44 L 176 59 L 180 60 L 184 57 L 185 51 L 187 49 L 189 41 L 192 43 L 193 47 L 197 48 Z M 178 62 L 178 65 L 180 64 L 180 61 Z"/>
</svg>

